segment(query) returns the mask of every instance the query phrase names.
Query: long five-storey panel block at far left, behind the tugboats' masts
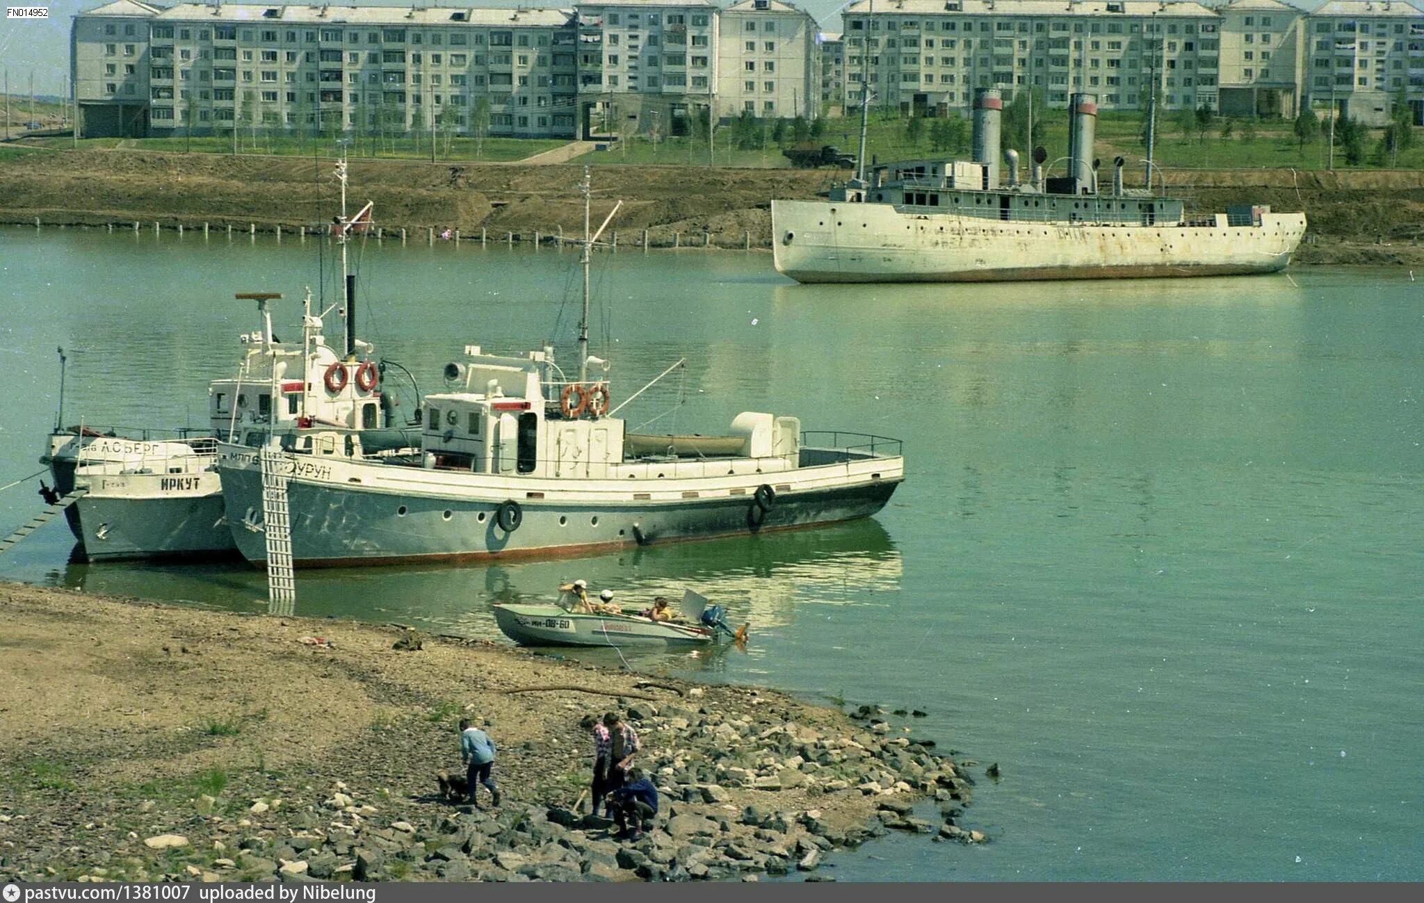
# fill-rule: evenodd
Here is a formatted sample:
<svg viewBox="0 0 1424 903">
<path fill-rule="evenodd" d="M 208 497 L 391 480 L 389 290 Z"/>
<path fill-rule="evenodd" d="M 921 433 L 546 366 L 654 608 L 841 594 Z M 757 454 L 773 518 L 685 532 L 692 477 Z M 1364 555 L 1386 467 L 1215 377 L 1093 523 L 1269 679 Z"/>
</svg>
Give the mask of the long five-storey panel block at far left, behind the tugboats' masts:
<svg viewBox="0 0 1424 903">
<path fill-rule="evenodd" d="M 140 6 L 120 0 L 75 17 L 75 40 L 112 7 Z M 132 37 L 145 50 L 135 87 L 148 98 L 148 134 L 234 125 L 403 134 L 436 124 L 575 134 L 577 33 L 564 10 L 185 3 L 144 17 Z M 80 73 L 87 57 L 83 47 L 75 54 Z M 112 122 L 90 110 L 105 103 L 107 84 L 75 85 L 84 134 L 111 134 Z"/>
</svg>

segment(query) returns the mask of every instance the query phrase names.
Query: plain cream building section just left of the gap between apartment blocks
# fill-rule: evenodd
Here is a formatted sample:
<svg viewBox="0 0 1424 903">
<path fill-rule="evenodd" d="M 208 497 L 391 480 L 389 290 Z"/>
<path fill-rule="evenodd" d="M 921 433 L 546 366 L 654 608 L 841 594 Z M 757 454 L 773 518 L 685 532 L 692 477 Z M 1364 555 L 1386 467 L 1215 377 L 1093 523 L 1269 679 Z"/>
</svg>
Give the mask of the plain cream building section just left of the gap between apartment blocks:
<svg viewBox="0 0 1424 903">
<path fill-rule="evenodd" d="M 722 117 L 820 115 L 816 20 L 780 0 L 740 0 L 718 26 Z"/>
</svg>

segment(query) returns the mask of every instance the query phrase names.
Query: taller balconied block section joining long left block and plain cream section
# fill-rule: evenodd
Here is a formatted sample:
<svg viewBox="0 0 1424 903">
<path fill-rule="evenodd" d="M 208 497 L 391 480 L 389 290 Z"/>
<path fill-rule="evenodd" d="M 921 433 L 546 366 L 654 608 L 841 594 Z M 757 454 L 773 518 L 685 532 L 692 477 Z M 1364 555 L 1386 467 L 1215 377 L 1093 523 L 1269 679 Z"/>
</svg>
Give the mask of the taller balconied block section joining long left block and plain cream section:
<svg viewBox="0 0 1424 903">
<path fill-rule="evenodd" d="M 578 6 L 585 134 L 685 134 L 713 105 L 718 7 L 706 0 Z"/>
</svg>

